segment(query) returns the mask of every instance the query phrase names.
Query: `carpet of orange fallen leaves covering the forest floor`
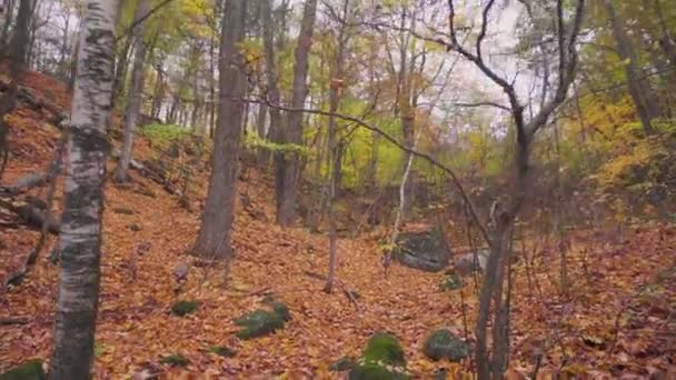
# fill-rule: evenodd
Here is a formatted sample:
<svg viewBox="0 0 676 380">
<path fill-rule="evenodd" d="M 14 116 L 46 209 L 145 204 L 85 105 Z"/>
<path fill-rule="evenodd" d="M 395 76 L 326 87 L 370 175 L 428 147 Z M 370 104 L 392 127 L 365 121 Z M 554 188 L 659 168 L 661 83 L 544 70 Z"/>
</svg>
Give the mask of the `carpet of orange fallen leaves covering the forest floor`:
<svg viewBox="0 0 676 380">
<path fill-rule="evenodd" d="M 69 106 L 56 81 L 31 73 L 26 84 Z M 3 183 L 43 170 L 59 138 L 29 109 L 17 110 L 10 123 L 12 160 Z M 137 144 L 137 154 L 148 151 L 145 141 Z M 230 268 L 192 266 L 187 252 L 197 236 L 199 207 L 188 211 L 160 186 L 132 176 L 130 186 L 108 181 L 106 188 L 96 378 L 131 378 L 142 370 L 161 378 L 339 378 L 342 374 L 328 367 L 344 356 L 358 356 L 377 331 L 400 339 L 416 378 L 431 378 L 440 368 L 456 374 L 471 368 L 470 362 L 433 362 L 421 348 L 437 328 L 464 336 L 467 323 L 471 331 L 474 281 L 466 281 L 461 291 L 443 292 L 443 273 L 397 264 L 386 277 L 376 238 L 364 236 L 340 239 L 338 249 L 337 277 L 360 294 L 357 303 L 340 288 L 322 292 L 324 281 L 308 273 L 326 271 L 327 238 L 275 226 L 271 187 L 252 169 L 243 171 L 239 190 L 266 217 L 254 218 L 238 204 L 237 257 Z M 20 267 L 38 236 L 23 228 L 0 230 L 1 279 Z M 58 267 L 49 263 L 49 251 L 21 284 L 0 293 L 0 320 L 18 320 L 0 324 L 0 371 L 31 358 L 50 358 Z M 538 360 L 540 376 L 676 376 L 675 226 L 633 226 L 616 240 L 602 231 L 571 233 L 566 294 L 558 287 L 557 251 L 540 247 L 533 266 L 527 262 L 516 264 L 514 278 L 510 376 L 530 373 Z M 181 263 L 190 269 L 177 296 L 173 270 Z M 256 309 L 267 293 L 284 301 L 292 319 L 272 336 L 237 339 L 232 319 Z M 178 299 L 198 301 L 197 312 L 173 316 L 170 308 Z M 237 354 L 222 358 L 209 352 L 210 346 L 227 346 Z M 162 363 L 171 353 L 183 354 L 190 363 Z"/>
</svg>

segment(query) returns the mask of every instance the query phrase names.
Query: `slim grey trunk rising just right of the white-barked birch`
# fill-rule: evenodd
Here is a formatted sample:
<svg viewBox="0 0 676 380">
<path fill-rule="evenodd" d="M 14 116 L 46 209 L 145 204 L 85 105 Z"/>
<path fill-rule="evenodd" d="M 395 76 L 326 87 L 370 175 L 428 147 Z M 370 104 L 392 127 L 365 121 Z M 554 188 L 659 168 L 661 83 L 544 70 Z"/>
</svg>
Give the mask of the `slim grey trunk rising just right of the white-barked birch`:
<svg viewBox="0 0 676 380">
<path fill-rule="evenodd" d="M 136 14 L 138 22 L 141 17 L 146 16 L 150 11 L 150 0 L 140 0 Z M 143 62 L 146 61 L 147 44 L 143 40 L 143 24 L 139 22 L 133 31 L 136 39 L 136 47 L 133 53 L 133 68 L 131 70 L 131 89 L 127 101 L 127 109 L 125 110 L 125 136 L 122 139 L 122 156 L 115 171 L 116 182 L 126 182 L 129 178 L 129 161 L 131 161 L 131 152 L 133 150 L 133 134 L 139 121 L 139 113 L 141 112 L 141 104 L 143 102 L 143 82 L 146 79 L 146 71 L 143 70 Z"/>
</svg>

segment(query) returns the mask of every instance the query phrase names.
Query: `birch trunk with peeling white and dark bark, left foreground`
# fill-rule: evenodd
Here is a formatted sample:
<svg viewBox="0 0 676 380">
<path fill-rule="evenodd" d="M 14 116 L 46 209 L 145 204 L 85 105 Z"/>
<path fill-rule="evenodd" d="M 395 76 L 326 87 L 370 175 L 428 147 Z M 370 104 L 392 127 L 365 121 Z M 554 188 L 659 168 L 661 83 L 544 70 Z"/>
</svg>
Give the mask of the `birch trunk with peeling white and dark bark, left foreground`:
<svg viewBox="0 0 676 380">
<path fill-rule="evenodd" d="M 61 219 L 61 274 L 50 378 L 91 379 L 99 302 L 117 1 L 88 0 L 78 54 Z"/>
</svg>

